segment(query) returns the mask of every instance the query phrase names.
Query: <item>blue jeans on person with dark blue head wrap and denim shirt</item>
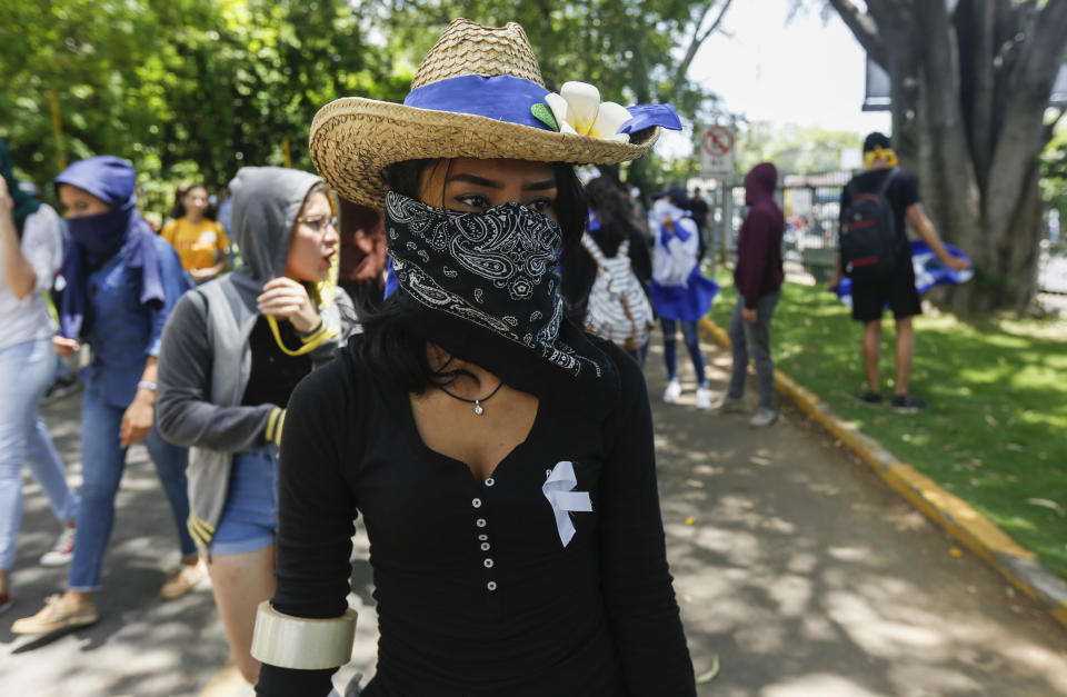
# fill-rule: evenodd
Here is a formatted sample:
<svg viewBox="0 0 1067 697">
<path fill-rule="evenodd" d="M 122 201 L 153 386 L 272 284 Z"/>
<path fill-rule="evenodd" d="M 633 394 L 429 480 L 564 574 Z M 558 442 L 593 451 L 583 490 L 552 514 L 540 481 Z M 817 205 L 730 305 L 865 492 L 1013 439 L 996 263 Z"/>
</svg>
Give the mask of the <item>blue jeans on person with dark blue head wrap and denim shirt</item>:
<svg viewBox="0 0 1067 697">
<path fill-rule="evenodd" d="M 127 449 L 119 446 L 119 428 L 124 411 L 122 407 L 104 402 L 91 385 L 86 386 L 81 405 L 81 510 L 74 537 L 74 559 L 67 583 L 70 590 L 100 589 L 103 550 L 114 522 L 114 495 L 126 468 Z M 186 490 L 189 451 L 163 440 L 154 426 L 143 442 L 170 501 L 181 556 L 191 557 L 197 554 L 197 546 L 186 529 L 186 519 L 189 518 L 189 495 Z"/>
</svg>

